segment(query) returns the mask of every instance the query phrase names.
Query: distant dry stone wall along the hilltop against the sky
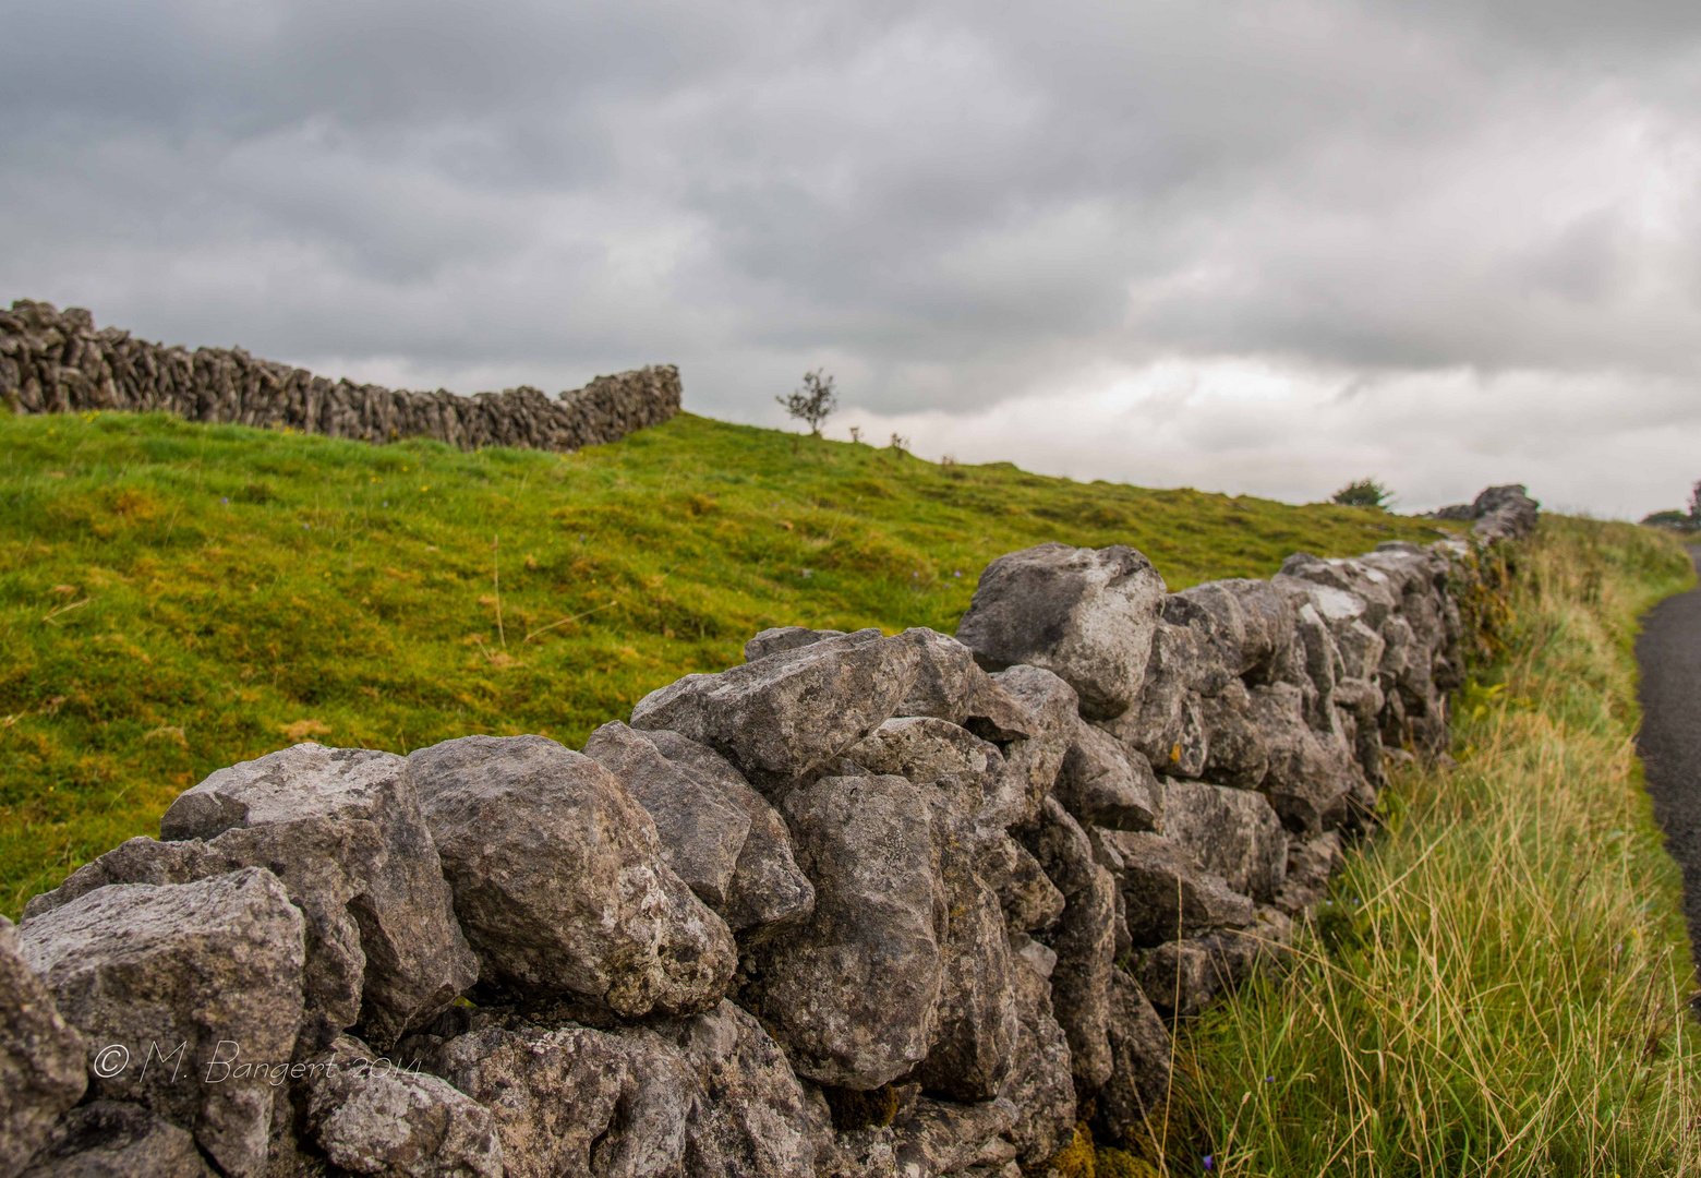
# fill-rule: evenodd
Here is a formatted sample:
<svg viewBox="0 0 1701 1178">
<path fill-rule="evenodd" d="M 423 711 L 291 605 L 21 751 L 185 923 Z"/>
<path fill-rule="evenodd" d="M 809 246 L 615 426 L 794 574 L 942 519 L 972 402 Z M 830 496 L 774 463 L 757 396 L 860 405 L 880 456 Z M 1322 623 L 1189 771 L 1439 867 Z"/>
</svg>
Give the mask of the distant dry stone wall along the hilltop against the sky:
<svg viewBox="0 0 1701 1178">
<path fill-rule="evenodd" d="M 199 422 L 299 429 L 369 443 L 435 437 L 476 449 L 578 449 L 658 426 L 679 412 L 672 364 L 599 376 L 548 397 L 521 386 L 459 397 L 332 381 L 255 359 L 240 347 L 167 347 L 116 327 L 95 329 L 82 308 L 19 300 L 0 312 L 0 403 L 20 414 L 102 409 L 167 412 Z"/>
</svg>

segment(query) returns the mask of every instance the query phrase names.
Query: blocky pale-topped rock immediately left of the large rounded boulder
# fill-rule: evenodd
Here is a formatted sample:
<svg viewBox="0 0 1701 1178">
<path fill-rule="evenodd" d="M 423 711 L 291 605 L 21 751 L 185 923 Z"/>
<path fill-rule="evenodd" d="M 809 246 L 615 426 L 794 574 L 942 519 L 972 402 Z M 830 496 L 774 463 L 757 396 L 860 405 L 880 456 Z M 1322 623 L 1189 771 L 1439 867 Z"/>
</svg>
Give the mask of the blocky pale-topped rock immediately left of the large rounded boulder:
<svg viewBox="0 0 1701 1178">
<path fill-rule="evenodd" d="M 27 912 L 107 884 L 265 866 L 306 919 L 310 1044 L 359 1025 L 388 1047 L 478 977 L 405 771 L 390 752 L 318 744 L 240 761 L 172 802 L 160 819 L 167 843 L 129 839 Z"/>
</svg>

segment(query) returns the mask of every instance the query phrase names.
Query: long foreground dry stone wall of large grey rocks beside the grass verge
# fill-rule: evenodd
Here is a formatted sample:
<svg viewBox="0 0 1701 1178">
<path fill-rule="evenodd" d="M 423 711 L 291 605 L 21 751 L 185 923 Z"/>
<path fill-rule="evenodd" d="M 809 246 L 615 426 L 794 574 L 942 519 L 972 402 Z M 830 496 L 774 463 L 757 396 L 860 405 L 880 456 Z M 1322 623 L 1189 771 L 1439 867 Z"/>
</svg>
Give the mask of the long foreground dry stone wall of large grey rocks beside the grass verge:
<svg viewBox="0 0 1701 1178">
<path fill-rule="evenodd" d="M 583 751 L 301 744 L 0 923 L 0 1178 L 1019 1178 L 1169 1093 L 1439 754 L 1476 540 L 1167 592 L 995 560 L 956 637 L 781 628 Z"/>
</svg>

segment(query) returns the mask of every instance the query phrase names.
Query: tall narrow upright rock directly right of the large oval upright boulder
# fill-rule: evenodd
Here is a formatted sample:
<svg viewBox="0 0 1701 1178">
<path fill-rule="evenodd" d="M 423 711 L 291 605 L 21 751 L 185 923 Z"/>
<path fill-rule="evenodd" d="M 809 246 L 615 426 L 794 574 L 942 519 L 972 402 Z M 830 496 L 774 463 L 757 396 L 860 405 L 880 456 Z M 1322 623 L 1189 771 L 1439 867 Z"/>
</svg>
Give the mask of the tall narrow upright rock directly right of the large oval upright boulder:
<svg viewBox="0 0 1701 1178">
<path fill-rule="evenodd" d="M 973 1103 L 998 1095 L 1010 1071 L 1019 1016 L 998 894 L 975 875 L 963 839 L 949 838 L 953 824 L 941 809 L 934 810 L 934 829 L 947 836 L 939 849 L 947 916 L 939 1030 L 915 1079 L 927 1091 Z M 903 1151 L 898 1152 L 902 1159 Z"/>
</svg>

